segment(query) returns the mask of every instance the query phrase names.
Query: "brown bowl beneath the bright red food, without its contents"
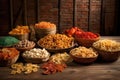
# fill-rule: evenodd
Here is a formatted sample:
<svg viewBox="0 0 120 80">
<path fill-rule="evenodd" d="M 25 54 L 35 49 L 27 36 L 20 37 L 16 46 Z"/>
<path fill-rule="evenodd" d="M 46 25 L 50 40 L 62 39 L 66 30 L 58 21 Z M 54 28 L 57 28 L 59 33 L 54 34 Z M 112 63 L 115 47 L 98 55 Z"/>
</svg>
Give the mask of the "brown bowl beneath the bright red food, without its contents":
<svg viewBox="0 0 120 80">
<path fill-rule="evenodd" d="M 96 34 L 96 35 L 98 35 L 98 37 L 94 38 L 94 39 L 78 38 L 78 37 L 75 36 L 75 40 L 77 41 L 77 43 L 79 45 L 82 45 L 82 46 L 85 46 L 85 47 L 91 47 L 94 42 L 96 42 L 100 39 L 99 34 Z"/>
</svg>

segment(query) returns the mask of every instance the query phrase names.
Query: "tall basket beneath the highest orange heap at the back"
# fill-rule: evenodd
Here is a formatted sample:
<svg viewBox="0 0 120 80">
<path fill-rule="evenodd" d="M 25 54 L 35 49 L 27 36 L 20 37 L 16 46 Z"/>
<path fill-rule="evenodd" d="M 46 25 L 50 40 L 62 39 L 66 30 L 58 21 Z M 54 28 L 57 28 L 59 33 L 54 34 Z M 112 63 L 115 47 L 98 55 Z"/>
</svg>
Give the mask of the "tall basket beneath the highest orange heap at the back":
<svg viewBox="0 0 120 80">
<path fill-rule="evenodd" d="M 53 28 L 35 28 L 36 38 L 39 40 L 48 34 L 55 34 L 56 27 Z"/>
</svg>

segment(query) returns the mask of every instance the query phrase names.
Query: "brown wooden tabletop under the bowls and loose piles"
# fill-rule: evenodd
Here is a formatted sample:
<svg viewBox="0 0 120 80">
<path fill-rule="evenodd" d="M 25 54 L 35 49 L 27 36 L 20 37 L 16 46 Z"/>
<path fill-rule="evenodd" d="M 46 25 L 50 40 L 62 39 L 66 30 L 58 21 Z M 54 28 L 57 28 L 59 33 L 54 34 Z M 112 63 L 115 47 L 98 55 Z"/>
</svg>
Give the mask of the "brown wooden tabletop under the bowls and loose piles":
<svg viewBox="0 0 120 80">
<path fill-rule="evenodd" d="M 120 37 L 102 37 L 120 41 Z M 11 69 L 0 67 L 0 80 L 120 80 L 120 58 L 112 63 L 95 62 L 80 65 L 75 62 L 63 71 L 51 75 L 42 75 L 39 70 L 29 75 L 10 75 Z"/>
</svg>

